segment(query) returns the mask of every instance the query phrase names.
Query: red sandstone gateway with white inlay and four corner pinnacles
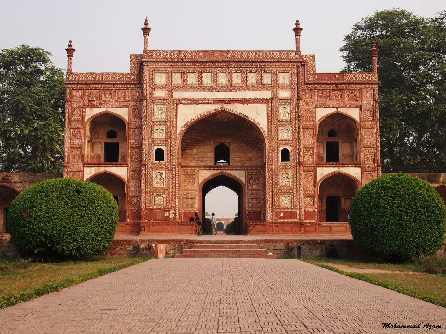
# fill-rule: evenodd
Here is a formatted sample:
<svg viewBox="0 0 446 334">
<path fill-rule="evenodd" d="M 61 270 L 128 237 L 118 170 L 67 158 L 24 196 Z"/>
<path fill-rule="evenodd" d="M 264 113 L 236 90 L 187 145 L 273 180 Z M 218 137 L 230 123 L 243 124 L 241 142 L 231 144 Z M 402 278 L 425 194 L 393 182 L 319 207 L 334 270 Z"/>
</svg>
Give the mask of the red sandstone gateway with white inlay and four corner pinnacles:
<svg viewBox="0 0 446 334">
<path fill-rule="evenodd" d="M 350 234 L 355 192 L 380 176 L 378 74 L 315 73 L 294 51 L 149 50 L 129 73 L 74 73 L 66 49 L 64 177 L 96 182 L 117 232 L 194 234 L 211 189 L 239 196 L 243 234 Z"/>
</svg>

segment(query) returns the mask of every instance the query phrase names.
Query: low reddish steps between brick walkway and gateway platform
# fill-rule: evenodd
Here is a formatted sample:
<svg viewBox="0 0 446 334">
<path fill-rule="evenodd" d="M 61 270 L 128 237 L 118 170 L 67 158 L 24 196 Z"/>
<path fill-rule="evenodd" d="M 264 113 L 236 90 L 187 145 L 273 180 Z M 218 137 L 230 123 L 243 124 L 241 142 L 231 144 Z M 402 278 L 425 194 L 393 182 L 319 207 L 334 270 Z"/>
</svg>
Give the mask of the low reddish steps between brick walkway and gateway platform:
<svg viewBox="0 0 446 334">
<path fill-rule="evenodd" d="M 173 257 L 256 257 L 275 259 L 274 254 L 266 249 L 259 248 L 257 244 L 193 244 L 183 249 L 182 254 Z"/>
</svg>

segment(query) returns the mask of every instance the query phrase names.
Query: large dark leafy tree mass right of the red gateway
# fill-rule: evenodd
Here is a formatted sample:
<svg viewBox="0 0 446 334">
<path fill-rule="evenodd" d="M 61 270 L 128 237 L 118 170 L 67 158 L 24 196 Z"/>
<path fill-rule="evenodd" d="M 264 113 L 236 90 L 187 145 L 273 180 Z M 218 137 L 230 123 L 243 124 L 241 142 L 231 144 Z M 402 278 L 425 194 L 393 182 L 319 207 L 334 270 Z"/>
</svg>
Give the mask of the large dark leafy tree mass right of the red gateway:
<svg viewBox="0 0 446 334">
<path fill-rule="evenodd" d="M 376 11 L 340 49 L 343 72 L 370 72 L 376 41 L 381 161 L 385 172 L 446 172 L 446 11 L 433 18 Z"/>
</svg>

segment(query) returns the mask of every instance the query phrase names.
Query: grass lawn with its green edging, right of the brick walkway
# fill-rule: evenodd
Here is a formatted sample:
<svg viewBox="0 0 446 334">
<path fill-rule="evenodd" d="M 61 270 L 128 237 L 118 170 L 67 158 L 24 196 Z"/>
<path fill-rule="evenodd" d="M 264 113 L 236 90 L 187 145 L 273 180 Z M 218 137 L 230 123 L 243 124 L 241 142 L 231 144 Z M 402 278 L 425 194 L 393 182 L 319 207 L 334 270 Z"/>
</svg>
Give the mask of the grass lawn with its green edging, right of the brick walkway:
<svg viewBox="0 0 446 334">
<path fill-rule="evenodd" d="M 334 259 L 298 259 L 317 265 L 319 267 L 332 270 L 352 278 L 366 281 L 384 288 L 415 297 L 429 303 L 446 307 L 446 275 L 433 275 L 422 273 L 420 268 L 413 264 L 392 265 L 388 263 L 367 263 L 352 260 L 334 260 Z M 414 274 L 395 274 L 395 273 L 350 273 L 348 271 L 337 269 L 330 264 L 351 265 L 356 268 L 398 270 L 398 271 L 417 271 Z M 416 270 L 414 270 L 416 269 Z"/>
</svg>

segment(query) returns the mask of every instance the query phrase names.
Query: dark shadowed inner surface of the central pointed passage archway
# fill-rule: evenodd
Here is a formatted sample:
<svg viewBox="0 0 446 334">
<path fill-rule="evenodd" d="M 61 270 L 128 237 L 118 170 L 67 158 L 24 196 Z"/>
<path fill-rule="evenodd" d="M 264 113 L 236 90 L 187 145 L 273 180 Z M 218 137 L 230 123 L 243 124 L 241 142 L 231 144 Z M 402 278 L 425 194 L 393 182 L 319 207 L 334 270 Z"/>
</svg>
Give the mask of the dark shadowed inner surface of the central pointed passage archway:
<svg viewBox="0 0 446 334">
<path fill-rule="evenodd" d="M 243 212 L 243 187 L 242 185 L 235 179 L 227 176 L 227 175 L 218 175 L 213 177 L 212 179 L 207 180 L 201 190 L 201 198 L 202 198 L 202 212 L 201 216 L 204 217 L 204 212 L 206 208 L 206 195 L 212 189 L 216 187 L 227 187 L 235 192 L 238 196 L 238 212 Z M 243 215 L 239 215 L 239 231 L 237 234 L 243 234 Z"/>
</svg>

